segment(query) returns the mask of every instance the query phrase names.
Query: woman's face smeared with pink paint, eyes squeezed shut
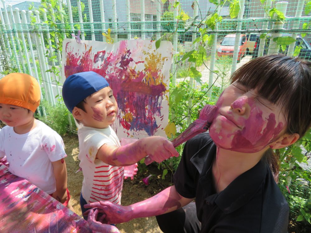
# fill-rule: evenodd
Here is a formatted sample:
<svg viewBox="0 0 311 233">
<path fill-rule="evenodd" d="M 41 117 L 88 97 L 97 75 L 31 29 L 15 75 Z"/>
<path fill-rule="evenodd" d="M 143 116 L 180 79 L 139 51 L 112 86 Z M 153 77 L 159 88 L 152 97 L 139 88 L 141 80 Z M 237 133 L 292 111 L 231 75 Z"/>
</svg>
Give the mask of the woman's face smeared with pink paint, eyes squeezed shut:
<svg viewBox="0 0 311 233">
<path fill-rule="evenodd" d="M 281 107 L 238 82 L 223 91 L 216 106 L 209 133 L 219 148 L 259 152 L 278 139 L 286 126 Z"/>
</svg>

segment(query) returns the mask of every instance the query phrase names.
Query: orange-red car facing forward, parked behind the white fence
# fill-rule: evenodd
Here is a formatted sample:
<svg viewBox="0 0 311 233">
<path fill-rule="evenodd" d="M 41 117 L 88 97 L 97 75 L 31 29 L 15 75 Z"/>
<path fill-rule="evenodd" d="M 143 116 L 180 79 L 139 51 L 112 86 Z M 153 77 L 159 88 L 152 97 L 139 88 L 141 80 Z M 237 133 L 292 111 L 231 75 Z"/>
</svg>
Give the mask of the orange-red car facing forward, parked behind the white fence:
<svg viewBox="0 0 311 233">
<path fill-rule="evenodd" d="M 235 35 L 236 34 L 228 34 L 224 37 L 224 39 L 220 42 L 220 46 L 217 51 L 218 57 L 233 57 L 234 43 L 235 43 Z M 239 53 L 238 53 L 238 61 L 245 56 L 246 52 L 246 35 L 241 34 L 239 40 Z"/>
</svg>

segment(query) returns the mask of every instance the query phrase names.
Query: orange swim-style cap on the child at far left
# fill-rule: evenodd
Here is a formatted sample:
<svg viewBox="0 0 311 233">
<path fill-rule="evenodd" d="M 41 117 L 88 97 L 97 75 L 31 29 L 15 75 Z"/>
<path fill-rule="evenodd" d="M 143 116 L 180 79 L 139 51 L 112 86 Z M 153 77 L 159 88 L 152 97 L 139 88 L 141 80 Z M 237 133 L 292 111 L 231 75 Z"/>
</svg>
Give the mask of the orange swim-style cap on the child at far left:
<svg viewBox="0 0 311 233">
<path fill-rule="evenodd" d="M 12 73 L 0 80 L 0 103 L 24 107 L 35 112 L 40 104 L 40 86 L 27 74 Z"/>
</svg>

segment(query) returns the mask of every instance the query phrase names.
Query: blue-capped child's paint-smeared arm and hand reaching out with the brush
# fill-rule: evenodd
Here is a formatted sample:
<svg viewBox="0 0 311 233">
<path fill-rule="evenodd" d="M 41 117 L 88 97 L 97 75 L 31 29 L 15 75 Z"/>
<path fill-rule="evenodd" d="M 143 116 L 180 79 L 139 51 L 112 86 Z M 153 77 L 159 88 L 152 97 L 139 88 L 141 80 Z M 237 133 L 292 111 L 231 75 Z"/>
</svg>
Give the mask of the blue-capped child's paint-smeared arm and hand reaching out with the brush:
<svg viewBox="0 0 311 233">
<path fill-rule="evenodd" d="M 128 166 L 147 155 L 156 162 L 162 162 L 172 156 L 178 157 L 179 153 L 168 139 L 153 136 L 121 147 L 104 144 L 99 148 L 96 158 L 112 166 Z"/>
</svg>

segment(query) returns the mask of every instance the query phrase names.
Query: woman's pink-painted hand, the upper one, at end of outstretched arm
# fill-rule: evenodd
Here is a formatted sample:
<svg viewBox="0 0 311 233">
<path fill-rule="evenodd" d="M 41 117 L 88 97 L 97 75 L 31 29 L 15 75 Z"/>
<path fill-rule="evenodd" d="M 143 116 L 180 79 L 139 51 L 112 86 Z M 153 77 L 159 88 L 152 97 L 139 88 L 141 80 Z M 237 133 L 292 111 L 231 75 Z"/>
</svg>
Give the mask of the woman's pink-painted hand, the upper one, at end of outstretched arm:
<svg viewBox="0 0 311 233">
<path fill-rule="evenodd" d="M 91 218 L 96 223 L 117 224 L 128 222 L 132 219 L 132 210 L 129 206 L 122 206 L 109 201 L 99 201 L 85 204 L 84 207 L 92 208 L 84 212 L 83 215 L 86 216 L 88 214 L 88 218 Z"/>
</svg>

